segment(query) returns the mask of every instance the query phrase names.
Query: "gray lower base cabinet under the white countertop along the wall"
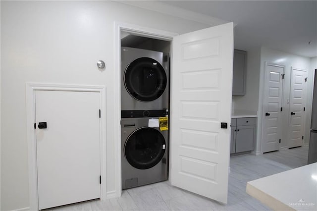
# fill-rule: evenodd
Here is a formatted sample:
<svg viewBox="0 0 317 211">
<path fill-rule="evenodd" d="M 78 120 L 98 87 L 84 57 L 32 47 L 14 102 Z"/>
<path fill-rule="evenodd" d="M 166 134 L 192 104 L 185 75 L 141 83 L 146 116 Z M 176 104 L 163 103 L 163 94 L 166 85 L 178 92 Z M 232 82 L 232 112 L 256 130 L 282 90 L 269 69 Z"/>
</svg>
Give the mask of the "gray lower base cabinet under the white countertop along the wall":
<svg viewBox="0 0 317 211">
<path fill-rule="evenodd" d="M 254 150 L 256 120 L 254 117 L 231 119 L 231 154 Z"/>
</svg>

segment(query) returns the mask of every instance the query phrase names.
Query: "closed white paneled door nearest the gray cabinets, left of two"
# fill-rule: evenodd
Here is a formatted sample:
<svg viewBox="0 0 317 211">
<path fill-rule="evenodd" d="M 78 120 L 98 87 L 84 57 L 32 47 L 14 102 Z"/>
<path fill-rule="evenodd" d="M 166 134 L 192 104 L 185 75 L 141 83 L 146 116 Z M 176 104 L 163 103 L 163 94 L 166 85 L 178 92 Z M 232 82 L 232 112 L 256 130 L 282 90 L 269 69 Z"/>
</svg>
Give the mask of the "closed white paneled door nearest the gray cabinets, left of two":
<svg viewBox="0 0 317 211">
<path fill-rule="evenodd" d="M 279 149 L 282 135 L 281 107 L 283 94 L 284 66 L 265 64 L 264 120 L 262 132 L 263 152 Z"/>
</svg>

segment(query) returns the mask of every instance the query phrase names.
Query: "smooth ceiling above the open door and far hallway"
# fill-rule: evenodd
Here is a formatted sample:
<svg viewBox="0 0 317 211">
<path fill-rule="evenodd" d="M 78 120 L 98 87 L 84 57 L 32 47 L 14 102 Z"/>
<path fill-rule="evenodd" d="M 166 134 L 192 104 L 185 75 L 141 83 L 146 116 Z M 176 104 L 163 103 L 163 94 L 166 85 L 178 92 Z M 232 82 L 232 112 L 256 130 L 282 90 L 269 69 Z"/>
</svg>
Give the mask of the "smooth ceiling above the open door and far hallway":
<svg viewBox="0 0 317 211">
<path fill-rule="evenodd" d="M 265 46 L 317 56 L 317 1 L 167 0 L 164 4 L 226 21 L 235 27 L 235 48 Z M 310 44 L 309 44 L 310 42 Z"/>
</svg>

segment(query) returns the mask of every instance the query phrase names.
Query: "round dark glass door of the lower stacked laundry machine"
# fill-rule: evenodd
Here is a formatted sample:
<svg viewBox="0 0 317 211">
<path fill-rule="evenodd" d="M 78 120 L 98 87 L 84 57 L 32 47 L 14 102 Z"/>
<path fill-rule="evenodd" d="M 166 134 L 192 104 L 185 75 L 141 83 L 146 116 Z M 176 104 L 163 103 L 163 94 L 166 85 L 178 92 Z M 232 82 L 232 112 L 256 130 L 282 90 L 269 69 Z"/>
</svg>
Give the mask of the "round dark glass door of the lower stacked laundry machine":
<svg viewBox="0 0 317 211">
<path fill-rule="evenodd" d="M 158 130 L 151 127 L 143 127 L 134 131 L 124 147 L 126 159 L 138 169 L 155 166 L 163 158 L 164 153 L 164 137 Z"/>
</svg>

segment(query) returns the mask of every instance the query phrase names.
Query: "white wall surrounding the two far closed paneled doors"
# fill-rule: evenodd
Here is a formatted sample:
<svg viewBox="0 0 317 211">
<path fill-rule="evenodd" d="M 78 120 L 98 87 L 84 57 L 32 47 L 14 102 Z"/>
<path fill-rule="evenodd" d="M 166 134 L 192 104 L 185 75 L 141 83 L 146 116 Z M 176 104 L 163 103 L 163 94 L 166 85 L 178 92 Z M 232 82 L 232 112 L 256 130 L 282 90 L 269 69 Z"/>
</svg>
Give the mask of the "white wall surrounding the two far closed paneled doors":
<svg viewBox="0 0 317 211">
<path fill-rule="evenodd" d="M 287 99 L 289 99 L 290 95 L 290 80 L 291 80 L 291 67 L 301 68 L 308 70 L 308 75 L 312 74 L 310 68 L 310 58 L 303 57 L 299 55 L 294 55 L 290 53 L 285 53 L 281 51 L 276 51 L 272 49 L 268 49 L 265 47 L 261 48 L 261 61 L 260 61 L 260 89 L 259 89 L 259 108 L 258 108 L 258 134 L 257 134 L 257 153 L 262 152 L 262 114 L 263 114 L 263 90 L 264 90 L 264 73 L 265 73 L 265 62 L 275 63 L 279 65 L 285 66 L 285 77 L 284 77 L 284 96 L 282 101 L 283 112 L 282 112 L 282 121 L 283 121 L 283 134 L 281 140 L 281 149 L 287 148 L 287 128 L 288 128 L 288 117 L 289 117 L 289 105 L 287 104 Z M 308 80 L 307 82 L 307 103 L 306 103 L 306 116 L 305 116 L 305 134 L 304 141 L 305 144 L 308 143 L 309 140 L 309 126 L 310 125 L 310 113 L 311 113 L 311 98 L 312 98 L 312 80 Z"/>
</svg>

